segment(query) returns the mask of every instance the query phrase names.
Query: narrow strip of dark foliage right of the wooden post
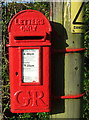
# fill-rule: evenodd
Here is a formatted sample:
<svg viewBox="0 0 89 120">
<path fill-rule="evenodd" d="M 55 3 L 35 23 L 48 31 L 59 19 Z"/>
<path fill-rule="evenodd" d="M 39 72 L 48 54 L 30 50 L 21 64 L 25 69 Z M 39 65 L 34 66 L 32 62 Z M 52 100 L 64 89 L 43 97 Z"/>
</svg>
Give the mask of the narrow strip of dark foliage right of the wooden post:
<svg viewBox="0 0 89 120">
<path fill-rule="evenodd" d="M 85 67 L 84 67 L 84 90 L 86 95 L 84 96 L 85 104 L 84 104 L 84 118 L 89 118 L 89 2 L 85 4 L 85 41 L 84 46 L 86 48 L 85 52 Z"/>
</svg>

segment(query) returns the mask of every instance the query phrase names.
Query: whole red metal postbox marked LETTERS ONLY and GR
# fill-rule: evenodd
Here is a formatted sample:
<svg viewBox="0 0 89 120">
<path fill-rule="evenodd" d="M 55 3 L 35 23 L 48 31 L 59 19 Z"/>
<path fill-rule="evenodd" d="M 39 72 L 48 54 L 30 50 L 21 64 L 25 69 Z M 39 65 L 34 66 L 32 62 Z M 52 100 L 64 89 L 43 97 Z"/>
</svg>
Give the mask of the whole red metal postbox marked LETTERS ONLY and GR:
<svg viewBox="0 0 89 120">
<path fill-rule="evenodd" d="M 23 10 L 11 19 L 8 31 L 11 112 L 49 112 L 49 21 L 39 11 Z"/>
</svg>

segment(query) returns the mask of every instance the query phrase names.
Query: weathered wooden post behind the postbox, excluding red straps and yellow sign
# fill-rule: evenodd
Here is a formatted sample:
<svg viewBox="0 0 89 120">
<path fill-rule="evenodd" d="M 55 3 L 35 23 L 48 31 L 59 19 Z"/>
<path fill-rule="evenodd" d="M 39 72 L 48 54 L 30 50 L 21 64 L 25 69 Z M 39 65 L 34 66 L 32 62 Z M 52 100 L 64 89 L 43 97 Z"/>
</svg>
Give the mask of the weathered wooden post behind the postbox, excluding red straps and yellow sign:
<svg viewBox="0 0 89 120">
<path fill-rule="evenodd" d="M 53 28 L 52 51 L 83 48 L 83 34 L 71 32 L 71 2 L 51 2 L 50 21 Z M 82 91 L 83 53 L 52 52 L 52 96 L 78 95 Z M 82 118 L 82 98 L 52 99 L 50 118 Z"/>
</svg>

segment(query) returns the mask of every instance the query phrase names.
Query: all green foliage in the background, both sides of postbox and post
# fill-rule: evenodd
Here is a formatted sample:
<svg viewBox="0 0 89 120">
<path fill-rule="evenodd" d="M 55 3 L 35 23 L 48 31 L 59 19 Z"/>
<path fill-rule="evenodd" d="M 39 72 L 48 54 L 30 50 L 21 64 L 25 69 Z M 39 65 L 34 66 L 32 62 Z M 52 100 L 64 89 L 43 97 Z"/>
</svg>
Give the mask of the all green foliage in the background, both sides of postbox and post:
<svg viewBox="0 0 89 120">
<path fill-rule="evenodd" d="M 5 3 L 2 4 L 2 20 L 3 20 L 3 41 L 2 41 L 2 79 L 3 79 L 3 119 L 4 120 L 20 120 L 20 119 L 30 119 L 30 120 L 48 120 L 49 113 L 11 113 L 10 112 L 10 101 L 9 101 L 9 76 L 8 76 L 8 51 L 6 48 L 6 44 L 8 43 L 8 30 L 7 26 L 10 19 L 19 11 L 25 9 L 34 9 L 41 11 L 46 17 L 49 17 L 49 4 L 48 3 Z M 84 90 L 86 95 L 84 96 L 85 106 L 84 106 L 84 118 L 89 118 L 89 2 L 85 5 L 85 24 L 86 24 L 86 32 L 85 32 L 85 41 L 84 46 L 86 48 L 85 52 L 85 80 L 84 80 Z"/>
</svg>

